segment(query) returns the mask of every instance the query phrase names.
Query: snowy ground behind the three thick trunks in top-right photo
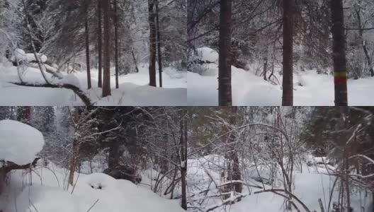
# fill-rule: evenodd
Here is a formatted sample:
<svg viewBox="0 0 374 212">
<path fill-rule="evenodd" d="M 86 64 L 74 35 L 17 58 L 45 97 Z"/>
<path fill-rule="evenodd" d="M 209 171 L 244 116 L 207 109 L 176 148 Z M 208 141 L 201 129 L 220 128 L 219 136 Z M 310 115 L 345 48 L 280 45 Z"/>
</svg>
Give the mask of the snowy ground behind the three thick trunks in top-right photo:
<svg viewBox="0 0 374 212">
<path fill-rule="evenodd" d="M 218 105 L 218 54 L 208 47 L 198 49 L 198 59 L 211 61 L 203 71 L 188 71 L 188 105 Z M 281 76 L 276 75 L 281 82 Z M 334 78 L 316 71 L 298 71 L 293 77 L 294 105 L 334 105 Z M 302 86 L 300 86 L 300 84 Z M 348 105 L 374 105 L 374 78 L 348 79 Z M 237 106 L 281 105 L 282 87 L 264 81 L 254 74 L 232 66 L 232 100 Z"/>
</svg>

